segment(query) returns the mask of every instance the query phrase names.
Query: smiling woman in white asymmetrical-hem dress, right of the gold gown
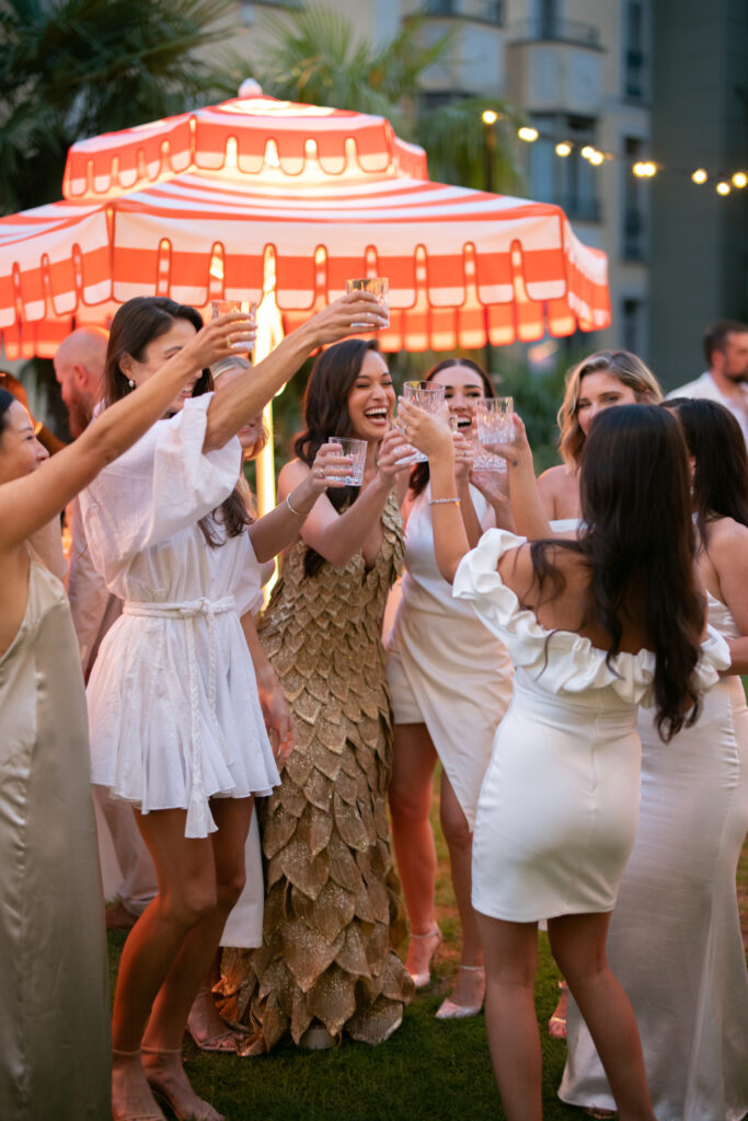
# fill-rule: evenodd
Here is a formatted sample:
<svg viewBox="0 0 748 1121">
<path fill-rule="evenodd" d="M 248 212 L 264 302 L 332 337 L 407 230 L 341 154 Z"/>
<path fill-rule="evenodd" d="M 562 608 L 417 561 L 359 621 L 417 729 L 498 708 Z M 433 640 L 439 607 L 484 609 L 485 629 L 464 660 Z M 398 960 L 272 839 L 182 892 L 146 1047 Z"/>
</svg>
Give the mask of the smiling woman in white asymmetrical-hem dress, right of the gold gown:
<svg viewBox="0 0 748 1121">
<path fill-rule="evenodd" d="M 425 380 L 444 386 L 452 423 L 470 450 L 475 402 L 496 396 L 490 379 L 474 362 L 452 358 L 437 363 Z M 458 493 L 471 544 L 477 545 L 496 521 L 486 499 L 471 485 L 469 467 L 469 457 L 459 456 Z M 472 827 L 496 725 L 511 696 L 511 663 L 469 604 L 452 597 L 436 566 L 430 498 L 428 464 L 419 463 L 410 473 L 403 504 L 403 596 L 387 642 L 395 711 L 389 807 L 410 921 L 406 965 L 416 988 L 423 988 L 441 942 L 434 909 L 436 852 L 428 817 L 434 768 L 441 760 L 440 817 L 462 924 L 462 954 L 454 991 L 436 1016 L 458 1019 L 474 1016 L 483 1004 L 483 958 L 470 902 Z"/>
</svg>

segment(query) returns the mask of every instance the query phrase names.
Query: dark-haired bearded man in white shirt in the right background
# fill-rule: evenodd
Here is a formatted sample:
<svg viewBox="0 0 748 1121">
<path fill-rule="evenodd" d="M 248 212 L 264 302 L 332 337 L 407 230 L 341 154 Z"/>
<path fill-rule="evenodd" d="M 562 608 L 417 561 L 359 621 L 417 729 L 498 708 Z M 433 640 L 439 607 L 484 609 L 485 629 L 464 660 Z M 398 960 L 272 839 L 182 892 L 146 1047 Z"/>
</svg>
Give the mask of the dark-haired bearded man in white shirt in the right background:
<svg viewBox="0 0 748 1121">
<path fill-rule="evenodd" d="M 673 389 L 671 397 L 707 397 L 736 418 L 748 446 L 748 324 L 721 319 L 704 331 L 709 370 L 695 381 Z"/>
</svg>

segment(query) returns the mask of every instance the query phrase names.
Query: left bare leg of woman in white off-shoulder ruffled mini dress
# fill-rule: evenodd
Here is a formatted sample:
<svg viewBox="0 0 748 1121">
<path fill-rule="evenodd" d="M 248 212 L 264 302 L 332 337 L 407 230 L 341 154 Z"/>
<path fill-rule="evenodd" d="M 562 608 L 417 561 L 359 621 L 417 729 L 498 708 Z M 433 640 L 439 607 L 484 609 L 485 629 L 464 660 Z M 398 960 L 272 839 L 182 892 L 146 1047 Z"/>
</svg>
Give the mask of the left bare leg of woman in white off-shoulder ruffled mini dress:
<svg viewBox="0 0 748 1121">
<path fill-rule="evenodd" d="M 478 915 L 486 958 L 486 1027 L 507 1121 L 542 1121 L 535 1016 L 537 924 Z"/>
</svg>

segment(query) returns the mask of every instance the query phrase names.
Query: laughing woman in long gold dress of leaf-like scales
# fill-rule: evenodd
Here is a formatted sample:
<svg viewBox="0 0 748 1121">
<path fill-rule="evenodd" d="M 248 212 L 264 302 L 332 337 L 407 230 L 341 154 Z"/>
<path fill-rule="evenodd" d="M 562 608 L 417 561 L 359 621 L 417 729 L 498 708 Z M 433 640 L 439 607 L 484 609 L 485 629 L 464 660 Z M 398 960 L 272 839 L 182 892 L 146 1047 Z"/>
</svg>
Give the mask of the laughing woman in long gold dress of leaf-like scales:
<svg viewBox="0 0 748 1121">
<path fill-rule="evenodd" d="M 264 944 L 224 955 L 224 1013 L 255 1029 L 247 1053 L 287 1032 L 320 1046 L 343 1030 L 381 1043 L 413 983 L 391 948 L 398 916 L 386 813 L 393 722 L 380 641 L 403 559 L 404 441 L 388 430 L 391 378 L 376 344 L 351 340 L 316 361 L 287 495 L 329 436 L 368 443 L 363 484 L 322 497 L 284 557 L 260 639 L 296 719 L 281 786 L 260 804 Z M 301 521 L 301 519 L 299 519 Z M 404 932 L 403 932 L 404 933 Z M 310 1031 L 310 1029 L 312 1029 Z"/>
</svg>

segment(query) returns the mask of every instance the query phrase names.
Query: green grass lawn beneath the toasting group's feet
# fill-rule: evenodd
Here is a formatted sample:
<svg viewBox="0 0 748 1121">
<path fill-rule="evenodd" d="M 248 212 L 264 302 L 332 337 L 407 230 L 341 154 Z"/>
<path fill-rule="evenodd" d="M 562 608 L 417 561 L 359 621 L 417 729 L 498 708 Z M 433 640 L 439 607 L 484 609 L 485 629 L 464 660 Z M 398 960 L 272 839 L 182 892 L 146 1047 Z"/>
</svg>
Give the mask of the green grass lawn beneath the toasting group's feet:
<svg viewBox="0 0 748 1121">
<path fill-rule="evenodd" d="M 434 815 L 436 817 L 436 815 Z M 185 1067 L 197 1093 L 227 1121 L 504 1121 L 482 1016 L 441 1022 L 434 1012 L 449 992 L 458 964 L 459 924 L 446 852 L 437 833 L 437 906 L 444 932 L 432 984 L 406 1009 L 401 1028 L 379 1047 L 347 1040 L 330 1051 L 278 1047 L 259 1058 L 204 1055 L 185 1046 Z M 738 871 L 744 936 L 748 934 L 748 844 Z M 543 1106 L 546 1121 L 576 1118 L 556 1087 L 565 1045 L 548 1038 L 558 979 L 547 938 L 541 934 L 536 1008 L 543 1039 Z M 124 935 L 111 933 L 112 980 Z"/>
</svg>

